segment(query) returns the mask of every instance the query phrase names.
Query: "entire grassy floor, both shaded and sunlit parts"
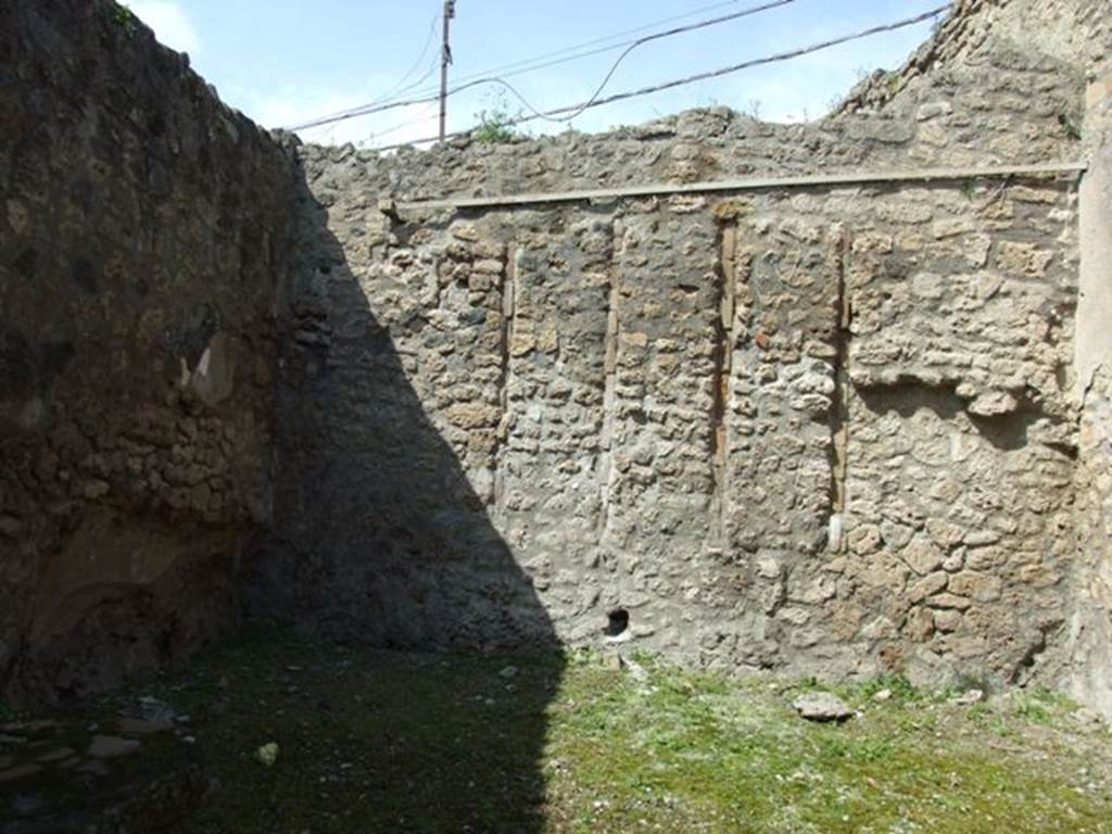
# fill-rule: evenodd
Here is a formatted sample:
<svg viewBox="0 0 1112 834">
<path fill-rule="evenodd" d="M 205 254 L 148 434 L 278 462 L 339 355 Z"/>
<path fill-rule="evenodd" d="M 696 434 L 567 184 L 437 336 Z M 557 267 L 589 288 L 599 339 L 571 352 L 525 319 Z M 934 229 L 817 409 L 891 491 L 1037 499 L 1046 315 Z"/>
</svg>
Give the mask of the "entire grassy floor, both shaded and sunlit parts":
<svg viewBox="0 0 1112 834">
<path fill-rule="evenodd" d="M 259 631 L 97 708 L 190 714 L 220 784 L 190 832 L 1112 831 L 1112 737 L 1051 693 L 959 707 L 887 678 L 838 687 L 858 717 L 816 725 L 791 708 L 815 682 L 633 659 L 644 675 Z"/>
</svg>

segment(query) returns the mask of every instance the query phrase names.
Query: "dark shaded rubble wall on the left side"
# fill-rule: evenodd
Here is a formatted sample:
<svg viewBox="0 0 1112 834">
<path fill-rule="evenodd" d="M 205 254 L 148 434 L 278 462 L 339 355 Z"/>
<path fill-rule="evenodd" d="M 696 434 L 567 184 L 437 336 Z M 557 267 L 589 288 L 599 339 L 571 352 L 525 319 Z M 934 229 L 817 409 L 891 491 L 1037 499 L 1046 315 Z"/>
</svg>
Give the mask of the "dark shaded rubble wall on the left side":
<svg viewBox="0 0 1112 834">
<path fill-rule="evenodd" d="M 0 19 L 0 687 L 57 698 L 238 616 L 294 177 L 113 3 Z"/>
</svg>

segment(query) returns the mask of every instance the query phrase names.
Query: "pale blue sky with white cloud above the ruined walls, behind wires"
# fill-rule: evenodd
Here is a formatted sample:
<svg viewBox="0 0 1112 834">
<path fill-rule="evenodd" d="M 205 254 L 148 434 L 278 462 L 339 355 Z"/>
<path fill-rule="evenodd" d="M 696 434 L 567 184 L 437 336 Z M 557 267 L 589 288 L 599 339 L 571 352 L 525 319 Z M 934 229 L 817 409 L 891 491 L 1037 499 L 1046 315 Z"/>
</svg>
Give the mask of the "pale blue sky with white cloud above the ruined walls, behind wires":
<svg viewBox="0 0 1112 834">
<path fill-rule="evenodd" d="M 645 44 L 626 58 L 606 92 L 823 41 L 909 18 L 943 2 L 795 0 Z M 477 77 L 678 16 L 689 17 L 596 47 L 757 4 L 759 0 L 457 0 L 451 77 Z M 426 80 L 406 95 L 435 93 L 439 80 L 436 21 L 443 0 L 133 0 L 129 6 L 162 42 L 188 51 L 193 67 L 225 101 L 266 127 L 287 127 L 364 105 L 399 82 L 414 85 L 426 73 Z M 863 72 L 898 67 L 930 36 L 930 23 L 921 23 L 801 59 L 599 107 L 576 118 L 573 127 L 605 130 L 711 105 L 727 105 L 775 121 L 816 118 Z M 607 51 L 509 80 L 540 109 L 576 103 L 594 91 L 619 53 L 620 49 Z M 495 88 L 461 92 L 449 99 L 448 129 L 468 128 L 480 111 L 494 109 L 513 113 L 519 106 Z M 528 129 L 545 132 L 564 126 L 533 122 Z M 436 130 L 436 106 L 415 105 L 304 131 L 302 138 L 376 147 L 416 140 Z"/>
</svg>

